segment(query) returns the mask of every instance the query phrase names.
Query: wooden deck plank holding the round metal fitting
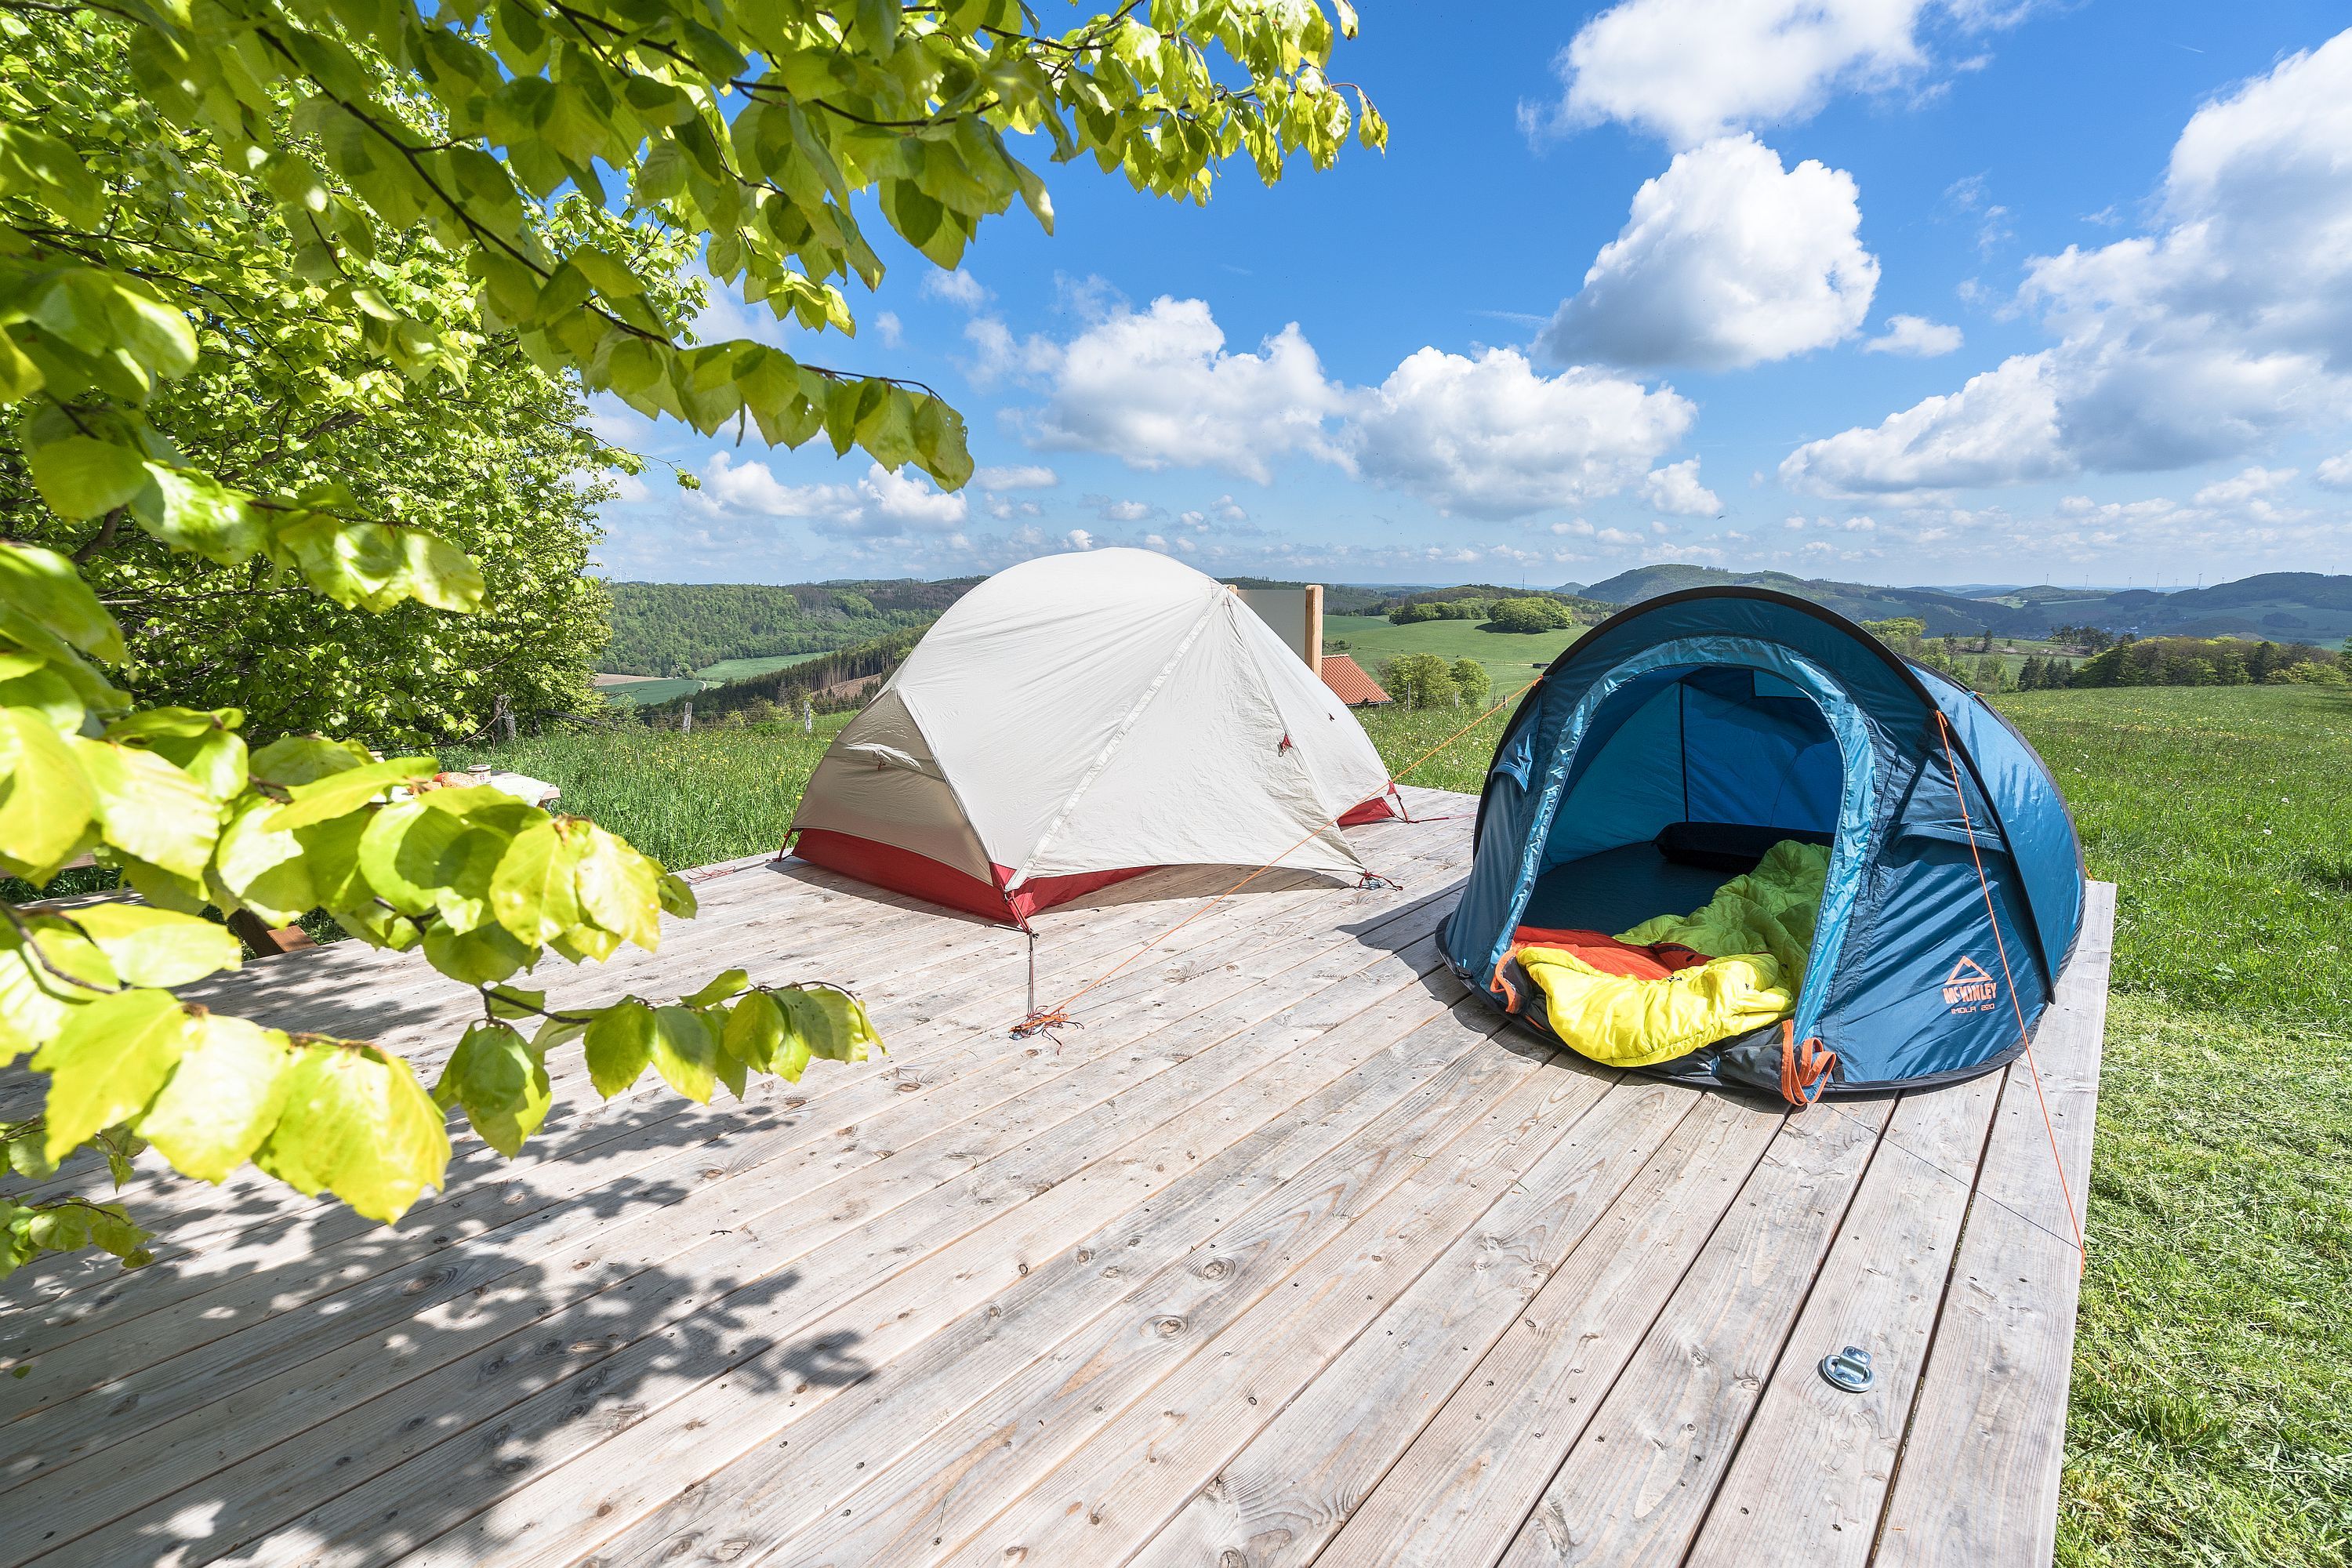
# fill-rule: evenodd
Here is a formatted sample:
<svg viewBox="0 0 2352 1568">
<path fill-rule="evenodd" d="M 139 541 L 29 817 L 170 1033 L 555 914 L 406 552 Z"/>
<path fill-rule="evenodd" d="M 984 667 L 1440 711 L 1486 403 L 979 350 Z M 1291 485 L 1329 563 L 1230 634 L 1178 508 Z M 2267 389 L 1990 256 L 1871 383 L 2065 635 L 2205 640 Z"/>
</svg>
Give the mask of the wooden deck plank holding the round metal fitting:
<svg viewBox="0 0 2352 1568">
<path fill-rule="evenodd" d="M 1689 1568 L 1870 1559 L 1999 1098 L 1994 1072 L 1896 1105 Z M 1820 1378 L 1820 1356 L 1844 1345 L 1870 1352 L 1872 1389 Z"/>
</svg>

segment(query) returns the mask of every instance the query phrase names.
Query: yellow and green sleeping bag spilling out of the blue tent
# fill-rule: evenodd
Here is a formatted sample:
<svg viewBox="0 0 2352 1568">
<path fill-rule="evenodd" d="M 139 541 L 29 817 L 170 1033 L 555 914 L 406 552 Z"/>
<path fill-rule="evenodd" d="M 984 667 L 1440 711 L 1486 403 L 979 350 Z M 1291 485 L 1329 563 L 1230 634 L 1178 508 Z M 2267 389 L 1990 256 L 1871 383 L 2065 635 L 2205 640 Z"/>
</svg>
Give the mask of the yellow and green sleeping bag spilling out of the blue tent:
<svg viewBox="0 0 2352 1568">
<path fill-rule="evenodd" d="M 1621 931 L 1637 947 L 1717 954 L 1663 980 L 1602 973 L 1564 947 L 1522 947 L 1519 966 L 1543 990 L 1552 1032 L 1583 1056 L 1611 1067 L 1668 1063 L 1797 1011 L 1828 872 L 1825 846 L 1783 839 L 1703 910 Z"/>
</svg>

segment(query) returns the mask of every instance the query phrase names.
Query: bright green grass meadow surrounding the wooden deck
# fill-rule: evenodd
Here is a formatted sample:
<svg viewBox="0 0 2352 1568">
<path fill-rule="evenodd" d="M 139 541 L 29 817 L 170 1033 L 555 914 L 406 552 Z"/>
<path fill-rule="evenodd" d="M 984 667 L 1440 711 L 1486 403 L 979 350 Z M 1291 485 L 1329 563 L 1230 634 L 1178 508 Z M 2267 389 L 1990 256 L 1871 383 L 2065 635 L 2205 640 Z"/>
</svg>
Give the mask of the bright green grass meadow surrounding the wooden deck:
<svg viewBox="0 0 2352 1568">
<path fill-rule="evenodd" d="M 1503 642 L 1458 621 L 1371 625 L 1418 639 L 1390 651 L 1477 656 Z M 1369 639 L 1334 635 L 1371 656 Z M 1510 658 L 1524 668 L 1541 651 Z M 1498 675 L 1496 698 L 1522 679 Z M 2058 773 L 2091 875 L 2122 884 L 2058 1561 L 2340 1566 L 2352 1559 L 2352 696 L 2037 691 L 2002 708 Z M 1505 715 L 1409 783 L 1477 790 Z M 1369 710 L 1364 729 L 1402 769 L 1475 717 Z M 814 738 L 576 733 L 452 762 L 555 780 L 569 811 L 696 865 L 774 849 L 842 722 L 821 719 Z"/>
</svg>

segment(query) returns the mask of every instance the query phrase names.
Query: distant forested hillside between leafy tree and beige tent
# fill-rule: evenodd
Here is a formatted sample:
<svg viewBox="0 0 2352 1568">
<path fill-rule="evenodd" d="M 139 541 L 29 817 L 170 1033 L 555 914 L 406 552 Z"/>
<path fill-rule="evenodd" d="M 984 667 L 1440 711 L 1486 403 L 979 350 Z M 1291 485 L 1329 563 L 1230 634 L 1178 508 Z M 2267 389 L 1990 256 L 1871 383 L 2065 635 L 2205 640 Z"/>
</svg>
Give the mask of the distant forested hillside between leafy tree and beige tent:
<svg viewBox="0 0 2352 1568">
<path fill-rule="evenodd" d="M 607 583 L 612 675 L 691 675 L 722 658 L 830 654 L 924 628 L 981 578 L 873 583 Z"/>
</svg>

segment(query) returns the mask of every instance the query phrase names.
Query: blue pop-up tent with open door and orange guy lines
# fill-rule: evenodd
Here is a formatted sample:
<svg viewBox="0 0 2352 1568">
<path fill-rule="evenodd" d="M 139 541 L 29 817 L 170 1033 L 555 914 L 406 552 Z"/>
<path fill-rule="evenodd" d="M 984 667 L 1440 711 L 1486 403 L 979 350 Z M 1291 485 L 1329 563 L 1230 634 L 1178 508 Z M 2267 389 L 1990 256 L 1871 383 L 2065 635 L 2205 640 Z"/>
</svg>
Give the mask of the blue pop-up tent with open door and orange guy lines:
<svg viewBox="0 0 2352 1568">
<path fill-rule="evenodd" d="M 2049 769 L 1973 691 L 1755 588 L 1637 604 L 1526 693 L 1444 952 L 1503 1006 L 1519 926 L 1693 910 L 1776 839 L 1830 846 L 1797 1011 L 1661 1072 L 1809 1100 L 2023 1048 L 2082 926 L 2082 849 Z"/>
</svg>

